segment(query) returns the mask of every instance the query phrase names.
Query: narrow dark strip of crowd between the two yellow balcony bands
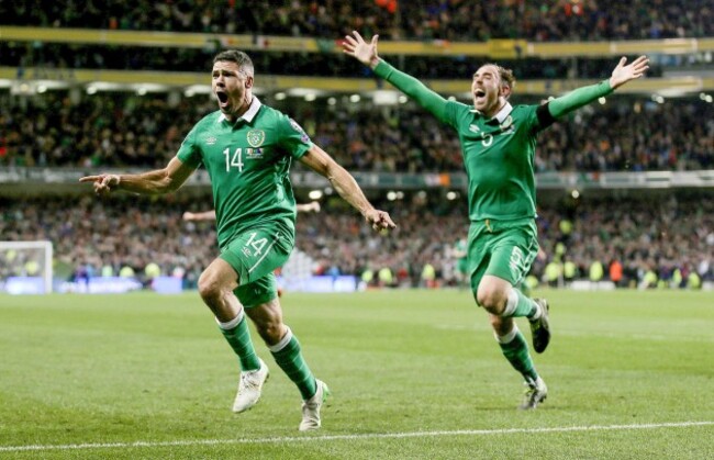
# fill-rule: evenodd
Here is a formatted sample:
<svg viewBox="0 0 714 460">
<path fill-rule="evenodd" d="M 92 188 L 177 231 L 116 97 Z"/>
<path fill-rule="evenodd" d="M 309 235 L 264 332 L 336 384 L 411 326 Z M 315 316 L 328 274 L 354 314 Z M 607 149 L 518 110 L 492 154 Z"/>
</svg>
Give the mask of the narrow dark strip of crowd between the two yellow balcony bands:
<svg viewBox="0 0 714 460">
<path fill-rule="evenodd" d="M 332 45 L 331 45 L 332 46 Z M 77 45 L 46 42 L 0 42 L 3 65 L 18 68 L 19 78 L 63 78 L 71 80 L 77 69 L 99 70 L 161 70 L 200 72 L 210 69 L 213 56 L 221 45 L 209 43 L 201 49 Z M 372 77 L 371 71 L 360 67 L 353 59 L 332 53 L 289 53 L 278 51 L 250 51 L 256 68 L 263 75 L 314 76 L 360 78 Z M 657 56 L 652 63 L 651 76 L 659 77 L 663 65 L 689 65 L 682 56 Z M 403 68 L 424 79 L 461 79 L 473 74 L 473 69 L 488 58 L 465 56 L 399 56 Z M 661 60 L 661 63 L 660 63 Z M 571 79 L 602 78 L 603 67 L 610 67 L 612 58 L 558 59 L 500 59 L 499 63 L 514 70 L 518 79 Z"/>
</svg>

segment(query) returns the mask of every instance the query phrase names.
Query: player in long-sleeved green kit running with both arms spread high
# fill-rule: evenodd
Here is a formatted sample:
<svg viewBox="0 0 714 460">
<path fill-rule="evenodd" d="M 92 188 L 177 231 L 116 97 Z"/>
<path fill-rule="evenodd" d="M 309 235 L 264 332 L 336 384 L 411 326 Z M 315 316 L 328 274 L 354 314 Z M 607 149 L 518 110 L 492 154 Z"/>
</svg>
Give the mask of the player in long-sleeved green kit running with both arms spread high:
<svg viewBox="0 0 714 460">
<path fill-rule="evenodd" d="M 533 348 L 543 352 L 550 340 L 548 303 L 516 289 L 538 253 L 533 169 L 536 138 L 557 119 L 645 75 L 649 60 L 640 56 L 626 65 L 623 57 L 609 79 L 535 105 L 511 105 L 513 72 L 486 64 L 473 74 L 473 104 L 467 105 L 447 101 L 380 59 L 377 43 L 378 35 L 366 42 L 353 32 L 345 37 L 343 51 L 457 131 L 469 181 L 471 291 L 477 304 L 488 312 L 503 355 L 525 380 L 527 390 L 520 407 L 533 409 L 545 401 L 548 389 L 513 318 L 528 318 Z"/>
</svg>

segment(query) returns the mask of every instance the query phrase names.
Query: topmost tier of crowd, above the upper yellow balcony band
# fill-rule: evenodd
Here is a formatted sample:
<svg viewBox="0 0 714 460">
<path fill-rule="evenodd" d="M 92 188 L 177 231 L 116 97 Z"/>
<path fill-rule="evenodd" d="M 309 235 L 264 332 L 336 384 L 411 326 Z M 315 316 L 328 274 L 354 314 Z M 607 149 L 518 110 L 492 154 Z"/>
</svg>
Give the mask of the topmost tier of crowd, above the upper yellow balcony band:
<svg viewBox="0 0 714 460">
<path fill-rule="evenodd" d="M 392 40 L 602 41 L 714 35 L 704 0 L 97 0 L 0 3 L 0 23 L 338 38 L 354 30 Z"/>
</svg>

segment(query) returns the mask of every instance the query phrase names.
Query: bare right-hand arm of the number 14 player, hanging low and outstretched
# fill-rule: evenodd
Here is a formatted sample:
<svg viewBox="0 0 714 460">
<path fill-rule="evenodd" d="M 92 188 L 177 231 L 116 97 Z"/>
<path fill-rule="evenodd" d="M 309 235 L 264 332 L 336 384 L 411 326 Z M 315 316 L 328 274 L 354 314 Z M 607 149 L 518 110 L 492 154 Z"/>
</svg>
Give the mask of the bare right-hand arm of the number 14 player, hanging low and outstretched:
<svg viewBox="0 0 714 460">
<path fill-rule="evenodd" d="M 357 209 L 376 231 L 397 227 L 384 211 L 376 210 L 365 197 L 355 178 L 345 168 L 316 145 L 300 158 L 300 161 L 330 180 L 337 193 Z"/>
</svg>

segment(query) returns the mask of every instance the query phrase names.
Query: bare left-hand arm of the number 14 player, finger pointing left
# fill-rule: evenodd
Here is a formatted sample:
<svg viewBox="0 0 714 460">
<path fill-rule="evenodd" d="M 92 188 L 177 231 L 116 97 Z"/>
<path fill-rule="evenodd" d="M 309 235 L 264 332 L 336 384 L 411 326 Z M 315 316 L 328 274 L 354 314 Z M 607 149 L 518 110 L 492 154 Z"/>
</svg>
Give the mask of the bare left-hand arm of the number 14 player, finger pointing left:
<svg viewBox="0 0 714 460">
<path fill-rule="evenodd" d="M 97 175 L 85 176 L 80 182 L 91 182 L 97 194 L 108 194 L 114 190 L 141 194 L 161 194 L 178 190 L 191 176 L 194 168 L 172 158 L 164 169 L 137 175 Z"/>
</svg>

